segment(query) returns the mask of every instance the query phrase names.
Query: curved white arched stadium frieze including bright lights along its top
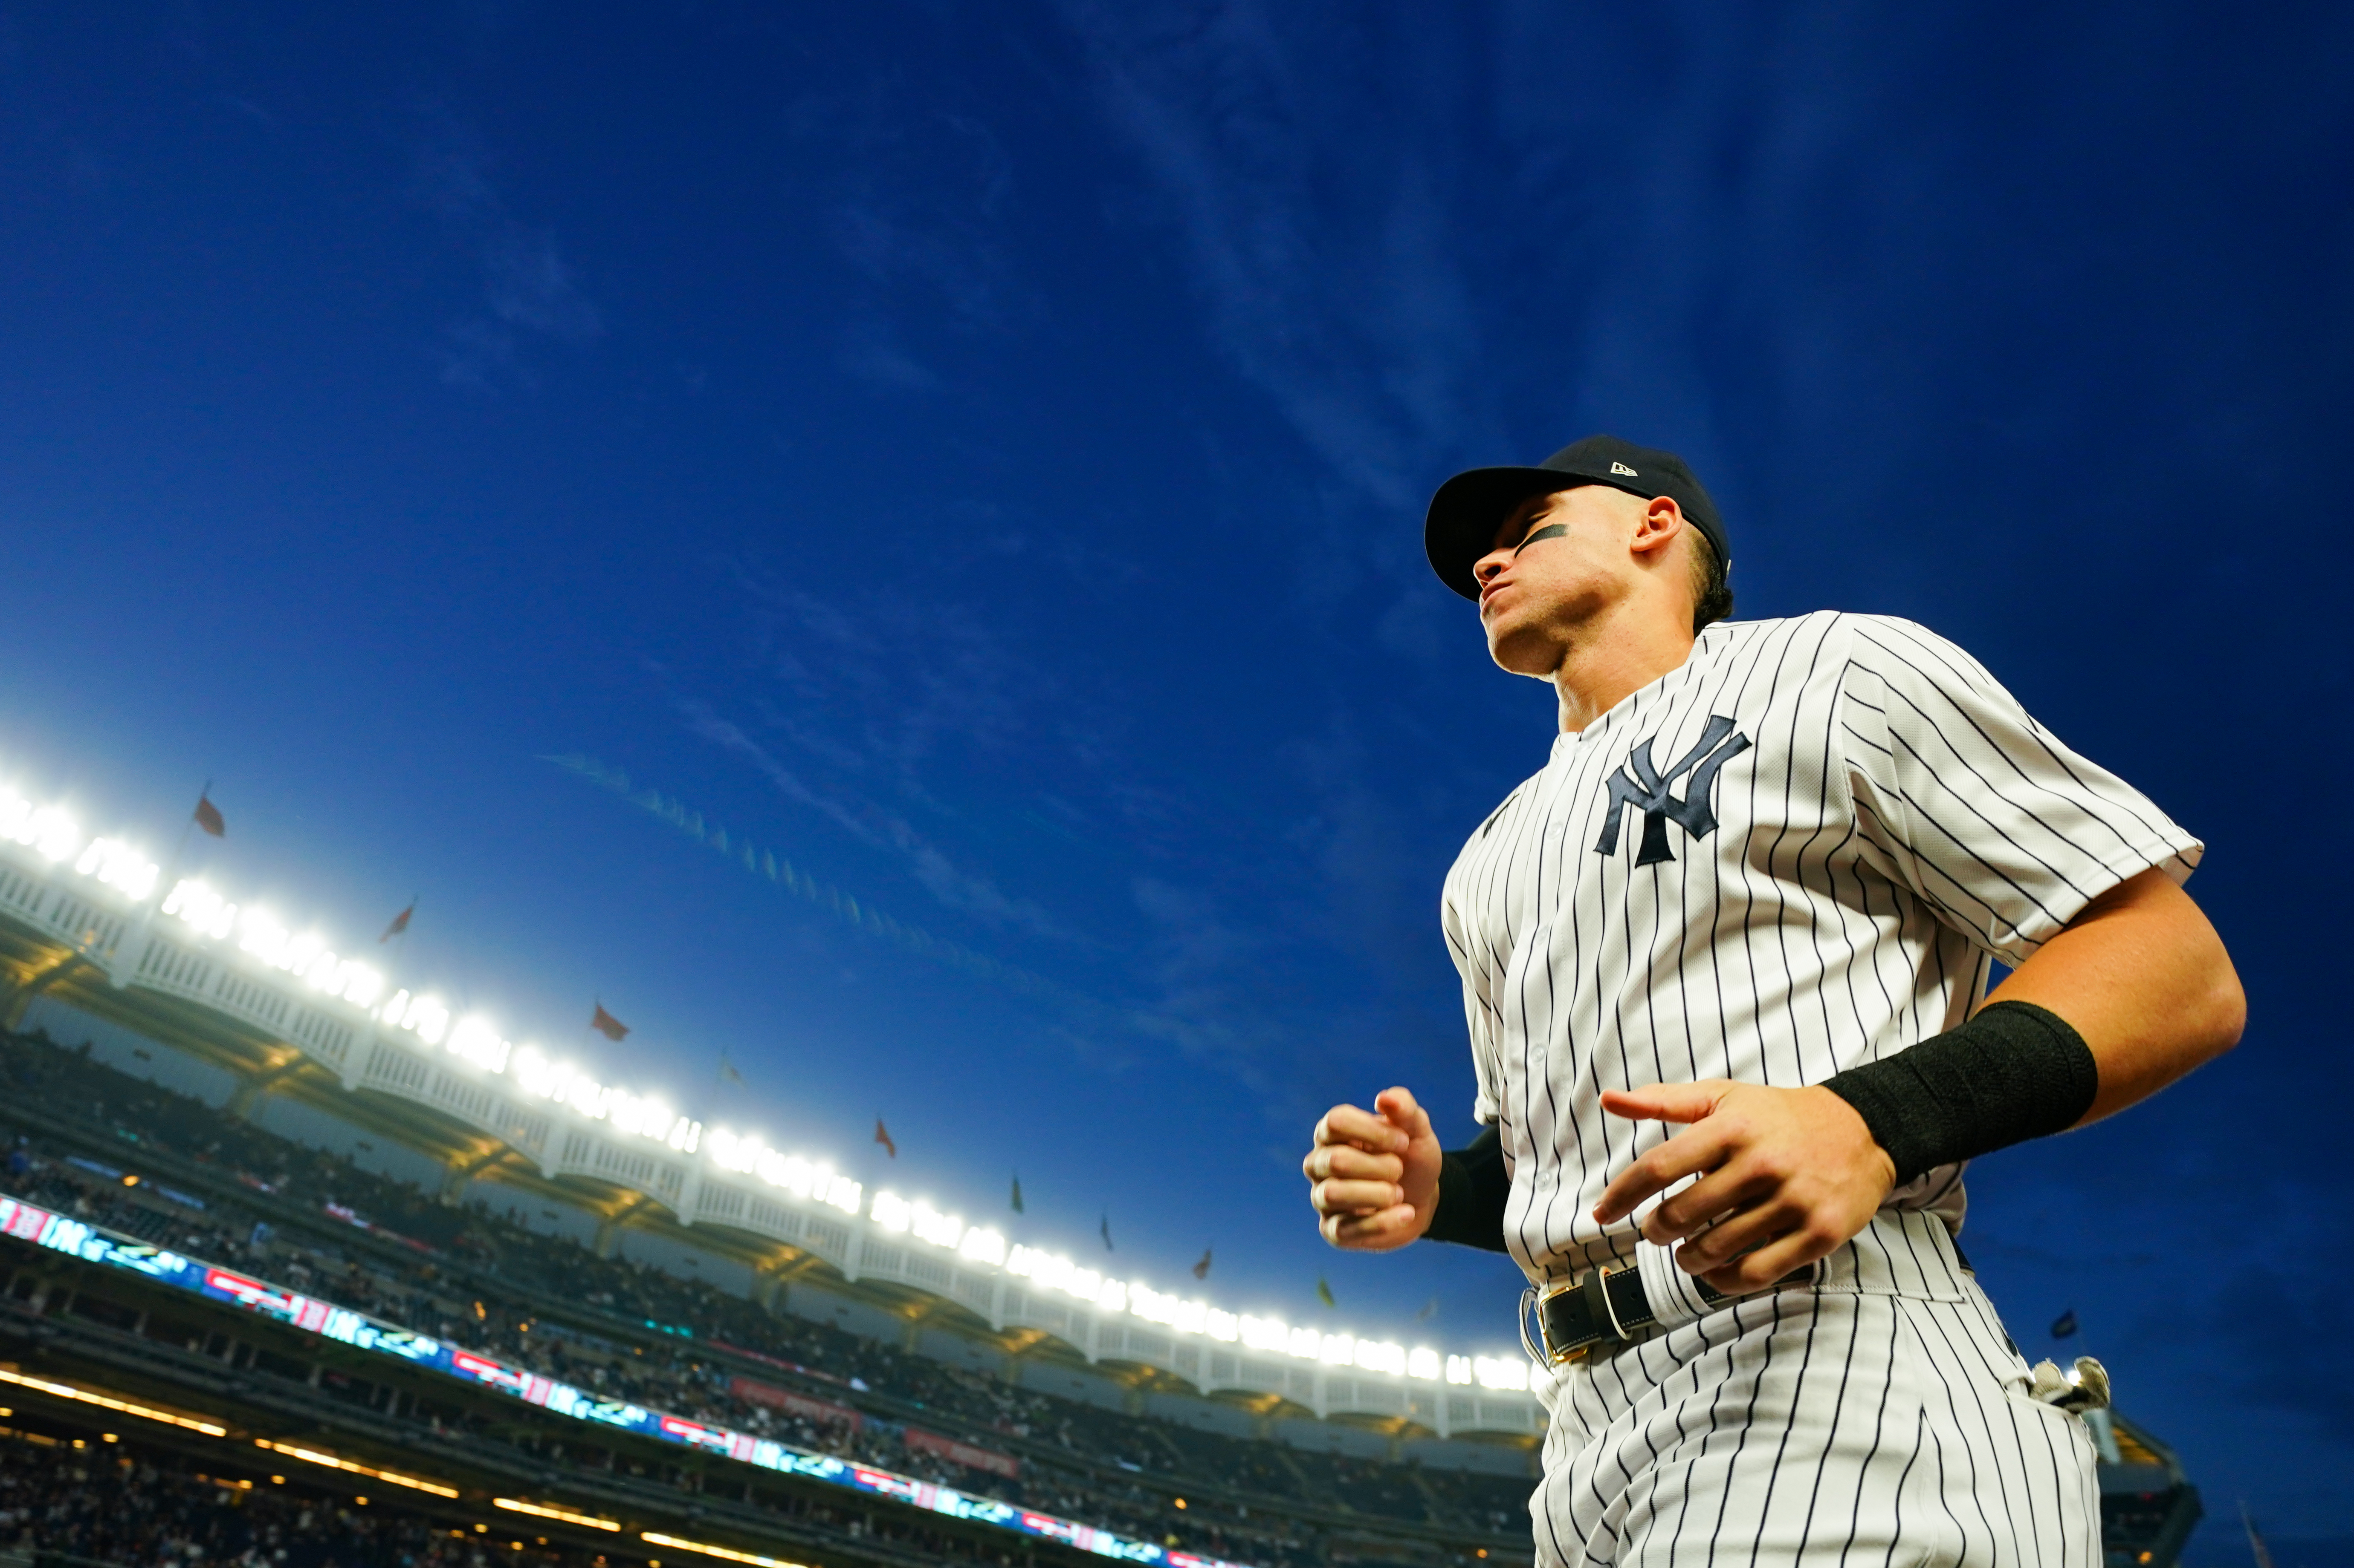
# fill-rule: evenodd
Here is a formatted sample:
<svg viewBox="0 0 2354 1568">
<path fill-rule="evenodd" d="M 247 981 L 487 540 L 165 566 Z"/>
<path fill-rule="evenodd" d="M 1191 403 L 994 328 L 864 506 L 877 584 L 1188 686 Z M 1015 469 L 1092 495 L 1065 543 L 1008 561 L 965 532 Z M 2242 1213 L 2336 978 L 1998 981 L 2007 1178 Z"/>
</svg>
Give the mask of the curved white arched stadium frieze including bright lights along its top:
<svg viewBox="0 0 2354 1568">
<path fill-rule="evenodd" d="M 1241 1314 L 1012 1244 L 822 1159 L 706 1128 L 593 1081 L 414 976 L 339 954 L 278 914 L 160 872 L 122 837 L 0 788 L 0 1025 L 54 997 L 308 1098 L 431 1154 L 454 1182 L 541 1187 L 636 1227 L 678 1227 L 760 1279 L 822 1269 L 927 1298 L 998 1335 L 1052 1338 L 1203 1394 L 1450 1434 L 1535 1436 L 1516 1349 L 1441 1354 Z"/>
</svg>

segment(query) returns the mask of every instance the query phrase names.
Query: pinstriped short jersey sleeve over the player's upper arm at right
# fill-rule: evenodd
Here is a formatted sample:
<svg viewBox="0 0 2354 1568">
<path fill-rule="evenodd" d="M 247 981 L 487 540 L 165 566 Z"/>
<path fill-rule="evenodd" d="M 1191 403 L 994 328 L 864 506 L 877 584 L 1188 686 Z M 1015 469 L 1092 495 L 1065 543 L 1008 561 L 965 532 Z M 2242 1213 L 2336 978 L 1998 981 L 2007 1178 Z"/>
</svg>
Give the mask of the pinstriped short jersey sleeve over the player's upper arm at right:
<svg viewBox="0 0 2354 1568">
<path fill-rule="evenodd" d="M 1867 858 L 2006 964 L 2119 882 L 2199 865 L 2203 844 L 2149 797 L 1909 621 L 1850 621 L 1834 736 Z"/>
</svg>

